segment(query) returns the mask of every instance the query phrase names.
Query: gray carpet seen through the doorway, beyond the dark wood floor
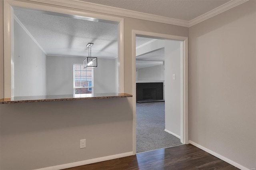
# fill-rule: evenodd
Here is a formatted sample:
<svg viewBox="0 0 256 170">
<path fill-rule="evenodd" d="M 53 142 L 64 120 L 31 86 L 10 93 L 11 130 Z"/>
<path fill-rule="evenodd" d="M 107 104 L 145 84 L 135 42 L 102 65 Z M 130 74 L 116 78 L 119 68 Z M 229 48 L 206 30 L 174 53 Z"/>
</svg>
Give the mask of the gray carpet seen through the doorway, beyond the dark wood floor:
<svg viewBox="0 0 256 170">
<path fill-rule="evenodd" d="M 137 153 L 182 144 L 164 131 L 164 102 L 136 103 L 136 114 Z"/>
</svg>

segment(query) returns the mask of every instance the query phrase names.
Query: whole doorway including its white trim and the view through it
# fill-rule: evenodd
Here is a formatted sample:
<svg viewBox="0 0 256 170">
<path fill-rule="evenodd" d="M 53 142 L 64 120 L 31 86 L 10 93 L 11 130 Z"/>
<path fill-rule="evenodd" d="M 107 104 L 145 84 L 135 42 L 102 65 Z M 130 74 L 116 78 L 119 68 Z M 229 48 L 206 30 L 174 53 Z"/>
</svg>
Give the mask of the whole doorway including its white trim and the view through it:
<svg viewBox="0 0 256 170">
<path fill-rule="evenodd" d="M 187 38 L 133 33 L 134 150 L 186 144 Z"/>
</svg>

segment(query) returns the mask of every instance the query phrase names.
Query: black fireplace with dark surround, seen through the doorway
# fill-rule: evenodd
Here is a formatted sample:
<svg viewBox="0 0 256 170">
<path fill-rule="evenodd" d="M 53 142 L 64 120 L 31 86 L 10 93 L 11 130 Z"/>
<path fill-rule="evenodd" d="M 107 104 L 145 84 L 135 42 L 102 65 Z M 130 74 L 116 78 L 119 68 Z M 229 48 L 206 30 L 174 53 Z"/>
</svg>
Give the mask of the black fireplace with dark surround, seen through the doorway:
<svg viewBox="0 0 256 170">
<path fill-rule="evenodd" d="M 164 83 L 136 83 L 136 101 L 164 99 Z"/>
</svg>

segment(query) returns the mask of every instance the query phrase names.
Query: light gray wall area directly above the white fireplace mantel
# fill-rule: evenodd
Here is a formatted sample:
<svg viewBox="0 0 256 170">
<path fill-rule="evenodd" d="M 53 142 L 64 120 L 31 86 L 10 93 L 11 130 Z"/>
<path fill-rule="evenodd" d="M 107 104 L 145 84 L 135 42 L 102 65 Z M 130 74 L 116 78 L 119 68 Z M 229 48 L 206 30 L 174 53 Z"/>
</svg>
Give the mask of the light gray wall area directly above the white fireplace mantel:
<svg viewBox="0 0 256 170">
<path fill-rule="evenodd" d="M 138 69 L 138 80 L 142 80 L 142 81 L 162 80 L 161 74 L 163 74 L 162 65 L 154 65 L 151 67 L 140 68 Z"/>
</svg>

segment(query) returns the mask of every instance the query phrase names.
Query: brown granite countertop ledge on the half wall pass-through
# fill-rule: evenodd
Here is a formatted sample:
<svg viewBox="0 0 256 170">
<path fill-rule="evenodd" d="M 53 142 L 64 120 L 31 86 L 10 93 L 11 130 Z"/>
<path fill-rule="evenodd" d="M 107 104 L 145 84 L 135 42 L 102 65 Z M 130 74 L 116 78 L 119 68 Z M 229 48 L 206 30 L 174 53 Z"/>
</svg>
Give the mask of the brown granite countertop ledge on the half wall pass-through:
<svg viewBox="0 0 256 170">
<path fill-rule="evenodd" d="M 109 99 L 132 97 L 126 93 L 93 93 L 93 94 L 76 94 L 76 95 L 48 95 L 48 96 L 24 96 L 14 97 L 10 100 L 0 101 L 0 104 L 10 103 L 33 103 L 46 101 L 70 101 L 70 100 L 88 100 L 88 99 Z"/>
</svg>

